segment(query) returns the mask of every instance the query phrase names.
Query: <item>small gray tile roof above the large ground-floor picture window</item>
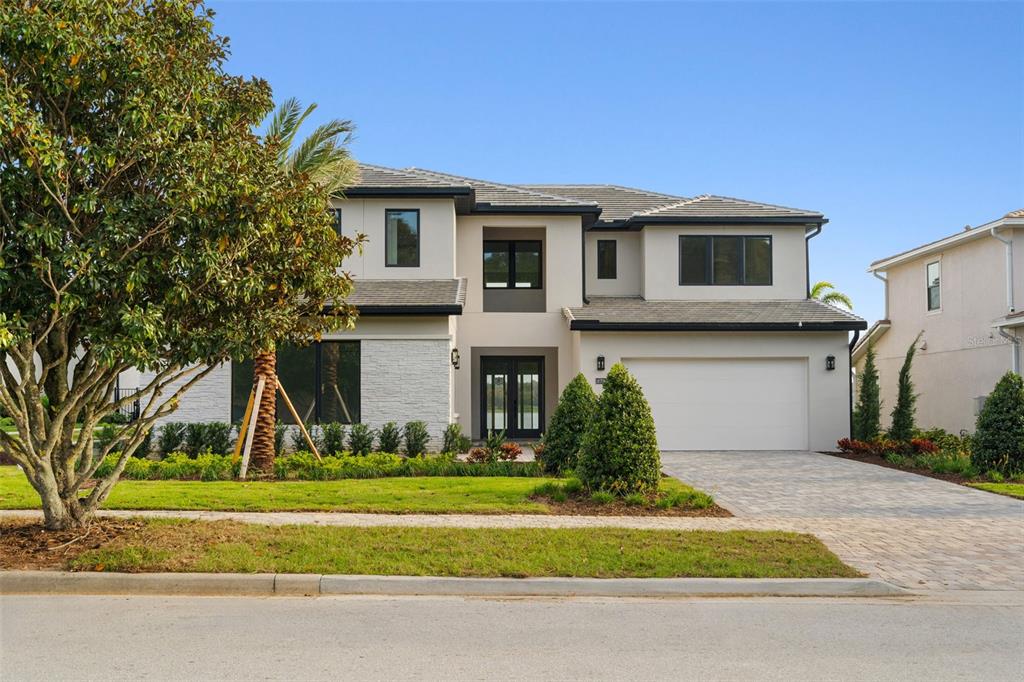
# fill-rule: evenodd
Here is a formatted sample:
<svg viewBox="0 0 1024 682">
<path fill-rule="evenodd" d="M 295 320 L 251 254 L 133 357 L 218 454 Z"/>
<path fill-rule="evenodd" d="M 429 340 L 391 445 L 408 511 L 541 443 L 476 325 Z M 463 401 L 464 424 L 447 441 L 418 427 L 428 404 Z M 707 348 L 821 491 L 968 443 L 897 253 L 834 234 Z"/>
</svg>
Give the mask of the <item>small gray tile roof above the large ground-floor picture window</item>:
<svg viewBox="0 0 1024 682">
<path fill-rule="evenodd" d="M 347 303 L 366 314 L 388 309 L 416 312 L 418 308 L 444 308 L 460 314 L 466 303 L 466 280 L 353 280 L 355 289 Z M 458 311 L 456 309 L 458 308 Z M 441 314 L 441 313 L 439 313 Z"/>
</svg>

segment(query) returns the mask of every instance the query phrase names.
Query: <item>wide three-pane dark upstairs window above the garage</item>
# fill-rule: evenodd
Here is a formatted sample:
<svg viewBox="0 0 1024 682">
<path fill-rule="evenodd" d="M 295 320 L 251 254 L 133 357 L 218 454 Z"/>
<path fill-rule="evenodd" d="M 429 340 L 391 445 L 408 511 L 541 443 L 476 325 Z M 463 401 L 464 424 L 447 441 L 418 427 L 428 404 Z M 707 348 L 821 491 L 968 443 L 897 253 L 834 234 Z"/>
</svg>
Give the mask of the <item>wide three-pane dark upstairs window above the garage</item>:
<svg viewBox="0 0 1024 682">
<path fill-rule="evenodd" d="M 770 285 L 771 237 L 679 238 L 680 285 Z"/>
</svg>

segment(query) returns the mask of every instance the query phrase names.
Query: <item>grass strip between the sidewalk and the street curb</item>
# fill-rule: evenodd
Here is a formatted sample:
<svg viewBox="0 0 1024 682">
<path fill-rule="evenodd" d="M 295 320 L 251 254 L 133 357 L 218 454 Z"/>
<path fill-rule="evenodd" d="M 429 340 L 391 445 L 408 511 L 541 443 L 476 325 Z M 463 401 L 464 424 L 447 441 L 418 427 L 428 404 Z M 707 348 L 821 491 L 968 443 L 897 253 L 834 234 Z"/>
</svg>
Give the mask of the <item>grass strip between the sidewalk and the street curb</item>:
<svg viewBox="0 0 1024 682">
<path fill-rule="evenodd" d="M 146 521 L 66 567 L 108 571 L 593 578 L 858 577 L 782 531 L 265 526 Z"/>
</svg>

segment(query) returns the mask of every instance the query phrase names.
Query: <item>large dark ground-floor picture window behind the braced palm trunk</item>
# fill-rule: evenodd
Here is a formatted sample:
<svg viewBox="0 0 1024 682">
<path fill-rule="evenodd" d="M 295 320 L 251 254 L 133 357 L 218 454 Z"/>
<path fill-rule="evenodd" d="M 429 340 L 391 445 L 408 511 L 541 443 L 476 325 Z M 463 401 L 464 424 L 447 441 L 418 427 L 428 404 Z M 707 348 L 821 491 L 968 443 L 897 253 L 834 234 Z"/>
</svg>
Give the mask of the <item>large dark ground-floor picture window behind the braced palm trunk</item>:
<svg viewBox="0 0 1024 682">
<path fill-rule="evenodd" d="M 278 380 L 305 423 L 359 421 L 359 342 L 322 341 L 278 349 Z M 253 386 L 253 361 L 231 363 L 231 422 L 245 416 Z M 278 395 L 278 419 L 295 424 Z"/>
</svg>

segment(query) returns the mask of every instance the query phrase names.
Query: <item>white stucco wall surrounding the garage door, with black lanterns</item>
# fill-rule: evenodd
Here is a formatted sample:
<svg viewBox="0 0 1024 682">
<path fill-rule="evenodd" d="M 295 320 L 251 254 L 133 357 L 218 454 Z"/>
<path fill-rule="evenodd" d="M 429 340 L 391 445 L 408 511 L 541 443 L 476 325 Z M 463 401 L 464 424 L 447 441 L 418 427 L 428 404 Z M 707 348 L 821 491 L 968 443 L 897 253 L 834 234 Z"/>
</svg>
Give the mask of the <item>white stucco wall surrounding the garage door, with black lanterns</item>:
<svg viewBox="0 0 1024 682">
<path fill-rule="evenodd" d="M 579 337 L 580 371 L 600 391 L 596 381 L 624 357 L 786 357 L 806 358 L 808 367 L 808 443 L 811 450 L 835 450 L 849 435 L 850 383 L 845 332 L 728 333 L 573 332 Z M 604 355 L 605 372 L 596 358 Z M 836 369 L 825 370 L 825 357 L 836 356 Z"/>
</svg>

